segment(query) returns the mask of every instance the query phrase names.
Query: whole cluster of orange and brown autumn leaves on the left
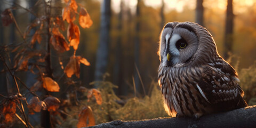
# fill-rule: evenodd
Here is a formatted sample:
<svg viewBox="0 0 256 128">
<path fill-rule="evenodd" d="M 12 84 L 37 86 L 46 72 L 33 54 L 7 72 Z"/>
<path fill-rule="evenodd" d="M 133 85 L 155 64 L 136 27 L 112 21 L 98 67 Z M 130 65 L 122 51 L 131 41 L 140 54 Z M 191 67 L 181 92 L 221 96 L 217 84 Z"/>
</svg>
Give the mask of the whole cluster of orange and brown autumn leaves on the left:
<svg viewBox="0 0 256 128">
<path fill-rule="evenodd" d="M 48 3 L 43 1 L 45 4 L 45 7 L 51 7 L 51 1 Z M 63 53 L 70 50 L 70 47 L 73 47 L 74 54 L 71 55 L 69 62 L 67 63 L 65 69 L 63 67 L 62 61 L 60 61 L 60 66 L 62 69 L 64 69 L 64 73 L 67 76 L 67 79 L 69 81 L 68 84 L 74 85 L 76 82 L 70 80 L 73 75 L 76 77 L 80 77 L 80 65 L 83 63 L 86 66 L 90 66 L 90 62 L 87 61 L 85 58 L 81 57 L 80 55 L 76 55 L 76 50 L 78 49 L 79 45 L 79 38 L 80 38 L 80 30 L 79 27 L 74 23 L 76 20 L 76 15 L 79 15 L 79 25 L 82 28 L 89 28 L 92 25 L 92 20 L 90 18 L 89 13 L 87 13 L 86 9 L 82 7 L 82 5 L 77 5 L 75 0 L 66 0 L 65 1 L 66 6 L 62 10 L 62 15 L 53 17 L 51 15 L 51 11 L 47 12 L 47 9 L 45 9 L 45 14 L 43 14 L 41 17 L 38 17 L 34 22 L 32 22 L 27 29 L 25 30 L 24 34 L 20 34 L 23 38 L 23 41 L 25 43 L 15 45 L 15 47 L 8 47 L 8 49 L 11 49 L 11 52 L 17 53 L 13 59 L 13 67 L 10 65 L 7 65 L 5 62 L 6 59 L 4 55 L 1 55 L 1 60 L 5 63 L 6 69 L 9 70 L 9 73 L 13 76 L 15 84 L 17 86 L 18 94 L 13 94 L 11 96 L 4 96 L 3 100 L 1 100 L 1 107 L 0 107 L 0 120 L 1 124 L 4 126 L 11 126 L 15 119 L 19 119 L 20 122 L 22 122 L 26 127 L 30 126 L 30 123 L 27 121 L 27 117 L 25 114 L 25 110 L 23 109 L 22 102 L 26 103 L 26 107 L 28 108 L 28 114 L 33 115 L 35 113 L 39 113 L 41 110 L 47 110 L 51 114 L 65 114 L 65 108 L 67 106 L 72 106 L 71 100 L 69 99 L 69 102 L 66 102 L 67 100 L 60 100 L 57 97 L 54 97 L 51 95 L 50 92 L 59 92 L 60 86 L 59 84 L 54 81 L 54 77 L 52 74 L 51 69 L 51 53 L 49 50 L 49 45 L 51 44 L 57 53 Z M 48 6 L 50 5 L 50 6 Z M 79 13 L 78 13 L 78 7 L 79 7 Z M 14 8 L 13 8 L 14 9 Z M 49 9 L 50 10 L 50 9 Z M 15 25 L 17 29 L 19 30 L 19 26 L 17 25 L 17 22 L 15 21 L 15 18 L 12 14 L 12 8 L 6 9 L 1 13 L 1 18 L 4 26 L 10 25 L 10 23 L 15 22 Z M 67 39 L 62 34 L 63 31 L 65 31 L 65 21 L 68 23 L 67 27 Z M 38 28 L 34 35 L 31 37 L 30 41 L 28 39 L 28 35 L 30 34 L 31 29 Z M 46 34 L 45 34 L 46 33 Z M 46 40 L 45 40 L 45 35 Z M 49 38 L 49 40 L 47 40 Z M 29 41 L 29 42 L 28 42 Z M 41 49 L 41 50 L 35 50 L 34 44 L 38 43 L 43 46 L 48 46 L 47 49 Z M 8 50 L 7 49 L 7 50 Z M 8 52 L 8 51 L 6 51 Z M 9 57 L 9 55 L 6 55 Z M 50 59 L 49 59 L 50 58 Z M 47 66 L 50 65 L 50 66 Z M 11 67 L 11 68 L 10 68 Z M 50 71 L 49 71 L 50 70 Z M 30 71 L 33 74 L 38 75 L 37 82 L 31 86 L 30 88 L 27 87 L 23 82 L 21 82 L 21 79 L 15 76 L 12 72 L 15 71 Z M 33 95 L 33 97 L 27 102 L 27 98 L 25 97 L 25 94 L 22 95 L 19 92 L 19 84 L 16 82 L 16 79 L 19 79 L 19 81 L 23 84 L 23 86 L 26 86 L 27 90 L 30 94 Z M 82 86 L 81 86 L 82 87 Z M 74 91 L 70 92 L 76 92 L 77 90 L 81 89 L 74 87 Z M 98 105 L 102 104 L 102 98 L 101 93 L 97 89 L 86 89 L 85 87 L 82 87 L 82 91 L 87 93 L 87 100 L 90 101 L 90 99 L 95 98 Z M 47 95 L 44 93 L 39 93 L 41 96 L 37 95 L 37 92 L 43 92 L 44 89 L 47 92 Z M 80 90 L 81 91 L 81 90 Z M 69 94 L 67 94 L 69 95 Z M 65 107 L 65 108 L 64 108 Z M 83 127 L 83 126 L 91 126 L 95 125 L 95 119 L 93 117 L 93 112 L 91 107 L 87 106 L 87 104 L 84 104 L 82 108 L 82 111 L 79 112 L 79 118 L 78 118 L 78 124 L 77 127 Z M 22 116 L 19 116 L 18 112 L 20 111 Z M 64 111 L 63 111 L 64 110 Z M 78 114 L 77 114 L 78 115 Z M 15 118 L 17 117 L 17 118 Z M 2 125 L 1 125 L 2 126 Z"/>
</svg>

